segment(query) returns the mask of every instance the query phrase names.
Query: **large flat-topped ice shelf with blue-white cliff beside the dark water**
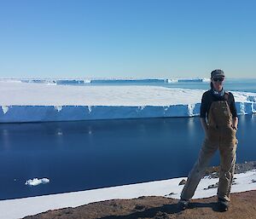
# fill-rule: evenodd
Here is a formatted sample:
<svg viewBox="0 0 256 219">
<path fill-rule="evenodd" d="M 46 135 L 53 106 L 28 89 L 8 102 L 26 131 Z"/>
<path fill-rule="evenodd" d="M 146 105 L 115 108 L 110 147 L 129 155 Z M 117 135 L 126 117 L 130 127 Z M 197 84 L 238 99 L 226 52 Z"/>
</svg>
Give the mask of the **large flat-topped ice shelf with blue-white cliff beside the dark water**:
<svg viewBox="0 0 256 219">
<path fill-rule="evenodd" d="M 200 114 L 204 91 L 0 82 L 0 123 L 193 117 Z M 239 114 L 256 112 L 256 93 L 232 93 Z"/>
</svg>

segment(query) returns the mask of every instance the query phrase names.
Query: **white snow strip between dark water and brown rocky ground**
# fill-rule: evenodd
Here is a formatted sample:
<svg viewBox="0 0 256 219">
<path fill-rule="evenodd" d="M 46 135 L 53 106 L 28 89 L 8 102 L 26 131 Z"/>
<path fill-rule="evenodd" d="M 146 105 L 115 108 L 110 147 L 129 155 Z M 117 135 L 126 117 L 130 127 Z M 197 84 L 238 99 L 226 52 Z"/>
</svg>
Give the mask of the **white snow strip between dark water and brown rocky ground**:
<svg viewBox="0 0 256 219">
<path fill-rule="evenodd" d="M 25 199 L 0 201 L 0 218 L 16 219 L 35 215 L 46 210 L 65 207 L 77 207 L 92 202 L 109 199 L 134 199 L 140 196 L 165 196 L 179 199 L 183 186 L 179 186 L 185 177 L 143 182 L 119 187 L 104 187 L 75 193 L 60 193 Z M 256 189 L 256 170 L 235 174 L 235 182 L 231 193 Z M 207 198 L 217 193 L 217 187 L 209 188 L 218 182 L 218 178 L 204 177 L 195 191 L 193 199 Z"/>
</svg>

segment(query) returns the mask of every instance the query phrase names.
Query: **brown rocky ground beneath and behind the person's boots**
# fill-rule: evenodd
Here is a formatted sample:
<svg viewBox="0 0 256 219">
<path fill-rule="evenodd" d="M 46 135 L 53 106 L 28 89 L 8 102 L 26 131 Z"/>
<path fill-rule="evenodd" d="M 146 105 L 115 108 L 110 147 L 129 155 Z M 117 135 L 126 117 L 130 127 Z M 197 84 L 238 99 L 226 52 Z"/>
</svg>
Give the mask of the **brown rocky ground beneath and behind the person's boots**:
<svg viewBox="0 0 256 219">
<path fill-rule="evenodd" d="M 256 162 L 236 164 L 236 173 L 253 170 Z M 219 167 L 211 167 L 207 175 L 218 177 Z M 232 193 L 230 210 L 219 212 L 217 197 L 193 199 L 189 209 L 180 211 L 177 199 L 166 197 L 140 197 L 138 199 L 113 199 L 91 203 L 76 208 L 49 210 L 26 219 L 135 219 L 135 218 L 180 218 L 180 219 L 255 219 L 256 190 Z M 24 218 L 24 219 L 25 219 Z"/>
</svg>

